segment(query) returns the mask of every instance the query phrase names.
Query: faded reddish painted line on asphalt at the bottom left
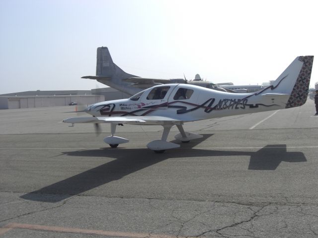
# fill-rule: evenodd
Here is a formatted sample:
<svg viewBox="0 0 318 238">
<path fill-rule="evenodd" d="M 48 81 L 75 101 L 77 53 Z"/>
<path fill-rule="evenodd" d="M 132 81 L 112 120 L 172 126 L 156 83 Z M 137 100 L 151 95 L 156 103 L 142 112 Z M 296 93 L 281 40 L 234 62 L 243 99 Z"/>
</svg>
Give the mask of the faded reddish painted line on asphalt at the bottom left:
<svg viewBox="0 0 318 238">
<path fill-rule="evenodd" d="M 48 232 L 61 232 L 61 233 L 77 233 L 77 234 L 90 234 L 101 235 L 108 237 L 127 237 L 127 238 L 185 238 L 180 236 L 168 236 L 159 234 L 147 234 L 147 233 L 130 233 L 130 232 L 114 232 L 103 230 L 89 230 L 81 228 L 69 228 L 69 227 L 56 227 L 56 226 L 43 226 L 21 223 L 9 223 L 3 229 L 28 229 L 36 231 L 48 231 Z"/>
</svg>

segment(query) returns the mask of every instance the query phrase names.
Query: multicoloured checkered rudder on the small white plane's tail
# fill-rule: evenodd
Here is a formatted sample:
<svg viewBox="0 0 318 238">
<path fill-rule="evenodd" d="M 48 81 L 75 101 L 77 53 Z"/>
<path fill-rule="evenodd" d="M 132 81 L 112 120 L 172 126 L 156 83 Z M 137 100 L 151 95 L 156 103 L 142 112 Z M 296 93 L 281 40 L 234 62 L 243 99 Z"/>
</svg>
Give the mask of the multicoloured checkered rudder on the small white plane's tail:
<svg viewBox="0 0 318 238">
<path fill-rule="evenodd" d="M 302 106 L 306 103 L 307 100 L 314 57 L 301 56 L 299 57 L 299 60 L 304 62 L 304 64 L 302 69 L 300 70 L 295 86 L 286 104 L 286 108 Z"/>
</svg>

